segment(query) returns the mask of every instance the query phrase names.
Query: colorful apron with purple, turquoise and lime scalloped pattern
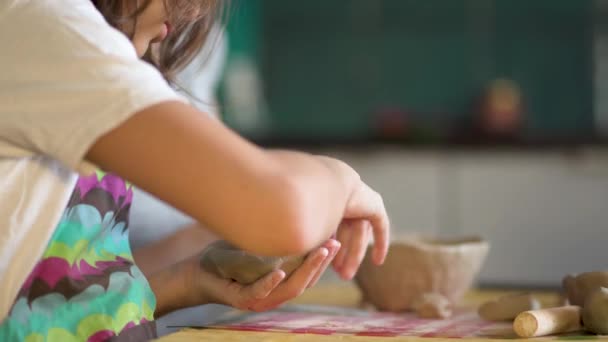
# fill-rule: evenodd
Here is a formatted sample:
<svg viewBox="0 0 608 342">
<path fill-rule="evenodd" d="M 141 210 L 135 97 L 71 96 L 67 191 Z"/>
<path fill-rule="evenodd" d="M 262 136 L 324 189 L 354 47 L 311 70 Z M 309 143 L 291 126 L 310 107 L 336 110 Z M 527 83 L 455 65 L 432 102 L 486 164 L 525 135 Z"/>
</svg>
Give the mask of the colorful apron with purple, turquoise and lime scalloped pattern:
<svg viewBox="0 0 608 342">
<path fill-rule="evenodd" d="M 49 244 L 21 287 L 0 341 L 145 341 L 156 299 L 129 247 L 131 186 L 80 177 Z"/>
</svg>

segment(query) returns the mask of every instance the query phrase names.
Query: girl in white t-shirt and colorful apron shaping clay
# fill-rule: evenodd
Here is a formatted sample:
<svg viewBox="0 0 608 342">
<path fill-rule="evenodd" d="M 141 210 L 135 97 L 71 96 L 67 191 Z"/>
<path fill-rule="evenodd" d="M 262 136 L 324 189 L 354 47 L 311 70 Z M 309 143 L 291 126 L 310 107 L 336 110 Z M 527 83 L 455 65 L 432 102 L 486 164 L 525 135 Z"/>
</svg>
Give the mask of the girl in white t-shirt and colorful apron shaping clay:
<svg viewBox="0 0 608 342">
<path fill-rule="evenodd" d="M 348 165 L 255 146 L 171 88 L 225 5 L 0 3 L 0 340 L 149 339 L 177 308 L 276 307 L 332 259 L 350 279 L 372 236 L 383 262 L 382 198 Z M 252 253 L 309 256 L 243 287 L 171 241 L 133 255 L 131 184 Z"/>
</svg>

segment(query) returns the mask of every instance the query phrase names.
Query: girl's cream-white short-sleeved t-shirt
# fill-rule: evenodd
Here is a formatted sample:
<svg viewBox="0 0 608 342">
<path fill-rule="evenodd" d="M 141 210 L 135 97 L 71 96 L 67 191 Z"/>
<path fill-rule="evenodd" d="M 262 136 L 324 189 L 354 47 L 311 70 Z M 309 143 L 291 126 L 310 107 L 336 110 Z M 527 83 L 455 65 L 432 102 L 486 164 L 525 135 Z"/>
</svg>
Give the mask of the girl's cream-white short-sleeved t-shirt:
<svg viewBox="0 0 608 342">
<path fill-rule="evenodd" d="M 90 0 L 0 1 L 0 321 L 90 146 L 169 100 L 185 101 Z"/>
</svg>

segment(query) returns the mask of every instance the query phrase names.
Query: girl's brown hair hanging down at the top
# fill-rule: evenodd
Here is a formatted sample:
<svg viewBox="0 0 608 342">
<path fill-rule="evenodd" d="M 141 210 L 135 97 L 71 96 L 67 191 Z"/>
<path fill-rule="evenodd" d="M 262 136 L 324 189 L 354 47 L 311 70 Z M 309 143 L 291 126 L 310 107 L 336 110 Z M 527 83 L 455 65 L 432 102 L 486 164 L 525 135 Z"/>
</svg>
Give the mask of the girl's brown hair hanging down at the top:
<svg viewBox="0 0 608 342">
<path fill-rule="evenodd" d="M 141 14 L 152 0 L 92 0 L 108 23 L 131 37 Z M 158 49 L 148 49 L 144 59 L 162 72 L 169 82 L 205 44 L 216 22 L 224 19 L 230 0 L 164 0 L 171 34 Z M 192 13 L 198 13 L 195 18 Z"/>
</svg>

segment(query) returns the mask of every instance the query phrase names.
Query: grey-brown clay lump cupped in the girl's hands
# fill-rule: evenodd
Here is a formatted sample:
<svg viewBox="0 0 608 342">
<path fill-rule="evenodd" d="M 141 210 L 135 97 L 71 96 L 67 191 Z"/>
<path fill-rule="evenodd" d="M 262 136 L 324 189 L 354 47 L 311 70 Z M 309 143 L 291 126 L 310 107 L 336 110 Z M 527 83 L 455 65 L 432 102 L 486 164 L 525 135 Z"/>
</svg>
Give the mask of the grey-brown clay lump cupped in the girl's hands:
<svg viewBox="0 0 608 342">
<path fill-rule="evenodd" d="M 200 257 L 200 264 L 203 269 L 219 277 L 249 285 L 277 269 L 283 270 L 289 276 L 302 264 L 304 258 L 257 256 L 219 240 L 205 248 Z"/>
</svg>

